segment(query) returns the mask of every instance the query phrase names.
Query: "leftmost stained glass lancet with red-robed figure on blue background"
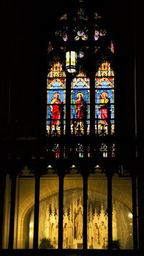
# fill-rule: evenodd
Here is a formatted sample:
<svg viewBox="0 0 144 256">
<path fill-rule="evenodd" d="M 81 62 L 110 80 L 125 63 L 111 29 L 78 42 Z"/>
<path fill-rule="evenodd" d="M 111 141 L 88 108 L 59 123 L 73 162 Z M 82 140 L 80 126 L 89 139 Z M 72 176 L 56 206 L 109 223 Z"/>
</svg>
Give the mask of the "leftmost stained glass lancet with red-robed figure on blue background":
<svg viewBox="0 0 144 256">
<path fill-rule="evenodd" d="M 59 62 L 53 64 L 47 79 L 47 132 L 62 135 L 65 132 L 66 75 Z"/>
</svg>

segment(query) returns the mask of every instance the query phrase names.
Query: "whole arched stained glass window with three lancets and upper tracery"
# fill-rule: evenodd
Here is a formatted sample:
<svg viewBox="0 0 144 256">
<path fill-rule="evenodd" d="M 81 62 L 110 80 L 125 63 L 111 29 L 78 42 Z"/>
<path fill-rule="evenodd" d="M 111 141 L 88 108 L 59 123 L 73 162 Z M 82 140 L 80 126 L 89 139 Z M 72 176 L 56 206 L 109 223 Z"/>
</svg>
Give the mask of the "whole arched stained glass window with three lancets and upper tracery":
<svg viewBox="0 0 144 256">
<path fill-rule="evenodd" d="M 49 61 L 53 61 L 54 57 L 50 56 L 55 55 L 58 55 L 59 61 L 55 61 L 48 73 L 48 135 L 67 134 L 69 129 L 71 135 L 76 136 L 88 135 L 90 131 L 95 131 L 95 135 L 100 136 L 115 133 L 114 72 L 110 66 L 114 56 L 113 39 L 110 37 L 107 24 L 103 23 L 102 16 L 94 12 L 90 17 L 82 3 L 83 1 L 80 1 L 80 7 L 74 16 L 71 17 L 67 13 L 61 16 L 53 43 L 49 42 L 48 45 Z M 71 70 L 70 75 L 65 61 L 69 51 L 77 53 L 75 73 Z M 66 73 L 63 70 L 67 70 Z M 94 111 L 91 110 L 93 104 Z M 103 157 L 107 157 L 108 151 L 107 143 L 99 145 L 99 154 Z M 114 156 L 115 145 L 111 152 Z"/>
</svg>

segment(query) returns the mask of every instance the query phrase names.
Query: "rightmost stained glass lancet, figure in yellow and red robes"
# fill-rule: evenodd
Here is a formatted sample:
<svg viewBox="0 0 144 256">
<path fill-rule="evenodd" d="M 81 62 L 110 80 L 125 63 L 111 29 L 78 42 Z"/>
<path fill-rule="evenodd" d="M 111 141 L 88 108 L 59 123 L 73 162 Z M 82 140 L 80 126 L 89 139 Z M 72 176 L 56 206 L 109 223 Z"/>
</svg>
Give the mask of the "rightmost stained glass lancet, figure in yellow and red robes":
<svg viewBox="0 0 144 256">
<path fill-rule="evenodd" d="M 95 77 L 95 131 L 98 135 L 114 134 L 114 72 L 104 62 Z"/>
</svg>

